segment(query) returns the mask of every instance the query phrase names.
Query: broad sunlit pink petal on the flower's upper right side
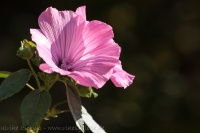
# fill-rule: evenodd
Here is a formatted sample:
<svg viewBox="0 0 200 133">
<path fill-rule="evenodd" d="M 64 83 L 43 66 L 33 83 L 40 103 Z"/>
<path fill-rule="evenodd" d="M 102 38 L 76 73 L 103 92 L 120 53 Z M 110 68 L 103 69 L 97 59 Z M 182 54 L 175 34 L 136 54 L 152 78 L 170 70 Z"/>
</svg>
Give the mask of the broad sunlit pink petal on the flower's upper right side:
<svg viewBox="0 0 200 133">
<path fill-rule="evenodd" d="M 112 27 L 109 25 L 96 20 L 89 22 L 83 31 L 84 45 L 73 51 L 75 67 L 94 55 L 119 59 L 121 48 L 113 41 L 113 36 Z"/>
</svg>

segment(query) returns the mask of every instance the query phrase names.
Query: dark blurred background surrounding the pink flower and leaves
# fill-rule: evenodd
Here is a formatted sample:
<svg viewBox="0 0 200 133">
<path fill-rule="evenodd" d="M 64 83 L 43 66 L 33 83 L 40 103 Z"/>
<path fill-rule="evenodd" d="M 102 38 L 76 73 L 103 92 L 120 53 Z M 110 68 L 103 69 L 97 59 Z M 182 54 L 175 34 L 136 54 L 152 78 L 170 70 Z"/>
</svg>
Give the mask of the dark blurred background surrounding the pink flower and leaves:
<svg viewBox="0 0 200 133">
<path fill-rule="evenodd" d="M 122 47 L 123 68 L 136 76 L 127 89 L 110 81 L 82 98 L 83 105 L 108 133 L 199 133 L 200 132 L 200 1 L 199 0 L 16 0 L 0 4 L 0 70 L 28 68 L 16 56 L 23 39 L 47 7 L 75 10 L 86 5 L 87 19 L 113 27 L 114 40 Z M 1 80 L 2 81 L 2 80 Z M 31 82 L 35 84 L 34 80 Z M 34 85 L 33 85 L 34 86 Z M 20 128 L 19 107 L 30 92 L 25 88 L 0 102 L 0 130 Z M 65 99 L 65 88 L 51 90 L 53 103 Z M 65 108 L 65 107 L 63 107 Z M 66 105 L 67 108 L 67 105 Z M 70 113 L 44 121 L 48 127 L 75 127 Z M 86 131 L 90 132 L 90 131 Z"/>
</svg>

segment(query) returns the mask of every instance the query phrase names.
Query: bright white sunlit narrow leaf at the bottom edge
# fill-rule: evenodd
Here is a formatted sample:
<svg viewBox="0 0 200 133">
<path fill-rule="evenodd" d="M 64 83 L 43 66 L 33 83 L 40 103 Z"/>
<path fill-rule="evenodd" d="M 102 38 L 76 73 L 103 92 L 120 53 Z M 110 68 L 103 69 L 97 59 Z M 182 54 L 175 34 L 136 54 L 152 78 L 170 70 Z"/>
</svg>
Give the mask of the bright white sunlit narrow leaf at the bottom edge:
<svg viewBox="0 0 200 133">
<path fill-rule="evenodd" d="M 106 133 L 104 129 L 97 124 L 87 110 L 82 106 L 82 117 L 86 125 L 90 128 L 93 133 Z"/>
</svg>

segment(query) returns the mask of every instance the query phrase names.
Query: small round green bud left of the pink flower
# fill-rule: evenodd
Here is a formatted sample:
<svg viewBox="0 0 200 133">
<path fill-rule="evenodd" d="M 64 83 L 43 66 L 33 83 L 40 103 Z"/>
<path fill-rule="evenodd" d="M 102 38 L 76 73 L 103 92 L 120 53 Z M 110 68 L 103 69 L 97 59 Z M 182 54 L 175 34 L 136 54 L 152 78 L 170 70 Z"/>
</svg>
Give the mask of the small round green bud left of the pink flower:
<svg viewBox="0 0 200 133">
<path fill-rule="evenodd" d="M 35 44 L 24 39 L 21 41 L 21 47 L 17 51 L 17 56 L 21 57 L 22 59 L 30 59 L 35 54 L 35 51 Z"/>
</svg>

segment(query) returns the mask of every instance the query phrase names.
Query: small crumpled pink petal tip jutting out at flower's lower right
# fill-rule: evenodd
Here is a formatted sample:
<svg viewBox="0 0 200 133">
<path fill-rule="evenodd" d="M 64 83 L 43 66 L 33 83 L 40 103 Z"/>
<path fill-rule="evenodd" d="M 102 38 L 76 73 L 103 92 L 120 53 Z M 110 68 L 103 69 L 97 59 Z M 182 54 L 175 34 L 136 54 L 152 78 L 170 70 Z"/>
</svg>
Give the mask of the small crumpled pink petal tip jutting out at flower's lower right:
<svg viewBox="0 0 200 133">
<path fill-rule="evenodd" d="M 124 87 L 124 89 L 132 84 L 134 78 L 135 76 L 124 71 L 121 65 L 114 67 L 113 74 L 110 77 L 116 87 Z"/>
</svg>

